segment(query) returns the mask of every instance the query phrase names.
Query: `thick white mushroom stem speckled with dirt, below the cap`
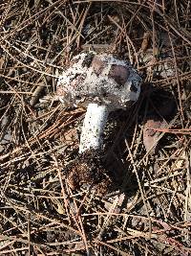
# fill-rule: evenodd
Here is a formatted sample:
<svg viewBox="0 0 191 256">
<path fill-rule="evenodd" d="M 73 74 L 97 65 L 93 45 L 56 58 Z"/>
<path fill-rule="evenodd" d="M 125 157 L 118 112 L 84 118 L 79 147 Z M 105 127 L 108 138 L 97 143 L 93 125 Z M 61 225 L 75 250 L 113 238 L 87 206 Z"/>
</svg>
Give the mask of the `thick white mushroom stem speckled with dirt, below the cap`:
<svg viewBox="0 0 191 256">
<path fill-rule="evenodd" d="M 81 131 L 79 153 L 102 148 L 102 133 L 107 122 L 109 109 L 106 105 L 89 104 Z"/>
</svg>

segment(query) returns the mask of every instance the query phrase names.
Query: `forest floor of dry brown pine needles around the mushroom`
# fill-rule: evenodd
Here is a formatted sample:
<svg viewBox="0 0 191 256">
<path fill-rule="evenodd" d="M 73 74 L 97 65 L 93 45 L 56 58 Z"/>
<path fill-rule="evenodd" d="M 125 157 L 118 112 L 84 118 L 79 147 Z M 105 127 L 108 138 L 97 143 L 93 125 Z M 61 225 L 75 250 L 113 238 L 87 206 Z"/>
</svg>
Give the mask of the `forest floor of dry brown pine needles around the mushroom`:
<svg viewBox="0 0 191 256">
<path fill-rule="evenodd" d="M 190 18 L 190 0 L 0 2 L 0 255 L 191 254 Z M 104 131 L 108 187 L 78 166 L 86 109 L 53 101 L 90 50 L 142 77 Z"/>
</svg>

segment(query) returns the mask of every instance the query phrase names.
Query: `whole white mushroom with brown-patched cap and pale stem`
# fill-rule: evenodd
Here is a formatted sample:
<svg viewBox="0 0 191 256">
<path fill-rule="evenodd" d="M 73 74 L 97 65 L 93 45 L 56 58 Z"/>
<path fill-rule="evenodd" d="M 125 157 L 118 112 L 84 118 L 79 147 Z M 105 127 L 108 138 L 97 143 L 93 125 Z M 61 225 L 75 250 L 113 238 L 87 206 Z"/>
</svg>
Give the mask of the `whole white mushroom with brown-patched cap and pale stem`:
<svg viewBox="0 0 191 256">
<path fill-rule="evenodd" d="M 129 62 L 110 54 L 90 52 L 73 58 L 58 79 L 57 95 L 67 106 L 87 106 L 79 153 L 102 149 L 109 113 L 136 102 L 141 81 Z"/>
</svg>

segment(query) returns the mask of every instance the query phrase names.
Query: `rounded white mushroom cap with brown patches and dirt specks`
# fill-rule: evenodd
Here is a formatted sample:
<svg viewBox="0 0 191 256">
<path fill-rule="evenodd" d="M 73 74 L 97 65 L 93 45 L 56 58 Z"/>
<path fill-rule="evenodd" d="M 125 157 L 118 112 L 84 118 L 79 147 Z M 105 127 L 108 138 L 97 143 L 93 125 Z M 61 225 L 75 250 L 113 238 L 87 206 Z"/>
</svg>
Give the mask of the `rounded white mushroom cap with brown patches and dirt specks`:
<svg viewBox="0 0 191 256">
<path fill-rule="evenodd" d="M 141 81 L 127 61 L 109 54 L 81 53 L 58 79 L 56 94 L 67 106 L 96 103 L 125 108 L 138 100 Z"/>
</svg>

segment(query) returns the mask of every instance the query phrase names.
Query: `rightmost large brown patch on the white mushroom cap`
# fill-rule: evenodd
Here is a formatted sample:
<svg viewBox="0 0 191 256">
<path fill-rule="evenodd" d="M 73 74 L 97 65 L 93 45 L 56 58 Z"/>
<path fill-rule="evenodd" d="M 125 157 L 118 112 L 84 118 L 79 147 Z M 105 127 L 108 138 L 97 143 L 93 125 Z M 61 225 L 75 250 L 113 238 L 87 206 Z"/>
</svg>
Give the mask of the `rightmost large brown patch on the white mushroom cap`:
<svg viewBox="0 0 191 256">
<path fill-rule="evenodd" d="M 129 77 L 129 70 L 125 66 L 112 65 L 109 78 L 115 80 L 119 85 L 124 85 Z"/>
</svg>

